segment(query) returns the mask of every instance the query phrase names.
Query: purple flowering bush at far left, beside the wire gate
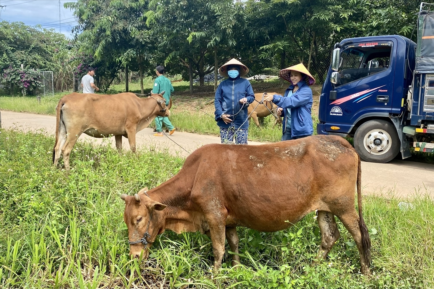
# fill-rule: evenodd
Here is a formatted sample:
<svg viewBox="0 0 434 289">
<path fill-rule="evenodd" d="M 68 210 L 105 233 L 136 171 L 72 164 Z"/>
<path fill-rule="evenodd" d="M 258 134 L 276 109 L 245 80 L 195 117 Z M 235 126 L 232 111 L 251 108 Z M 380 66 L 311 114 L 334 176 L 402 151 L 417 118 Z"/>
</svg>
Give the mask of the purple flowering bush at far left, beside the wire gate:
<svg viewBox="0 0 434 289">
<path fill-rule="evenodd" d="M 21 69 L 9 66 L 3 70 L 3 81 L 7 84 L 12 83 L 14 86 L 23 90 L 23 95 L 30 91 L 36 91 L 37 88 L 42 86 L 40 81 L 40 72 L 35 69 Z"/>
</svg>

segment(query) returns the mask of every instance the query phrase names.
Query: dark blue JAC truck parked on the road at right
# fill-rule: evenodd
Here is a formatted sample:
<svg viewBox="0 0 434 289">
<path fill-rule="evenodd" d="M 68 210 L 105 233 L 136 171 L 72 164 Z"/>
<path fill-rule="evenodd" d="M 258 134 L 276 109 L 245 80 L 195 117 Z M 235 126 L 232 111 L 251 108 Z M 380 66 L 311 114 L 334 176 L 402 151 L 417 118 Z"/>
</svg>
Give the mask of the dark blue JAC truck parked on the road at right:
<svg viewBox="0 0 434 289">
<path fill-rule="evenodd" d="M 434 4 L 422 2 L 418 43 L 400 35 L 335 44 L 319 97 L 318 134 L 352 137 L 360 157 L 389 162 L 434 151 Z"/>
</svg>

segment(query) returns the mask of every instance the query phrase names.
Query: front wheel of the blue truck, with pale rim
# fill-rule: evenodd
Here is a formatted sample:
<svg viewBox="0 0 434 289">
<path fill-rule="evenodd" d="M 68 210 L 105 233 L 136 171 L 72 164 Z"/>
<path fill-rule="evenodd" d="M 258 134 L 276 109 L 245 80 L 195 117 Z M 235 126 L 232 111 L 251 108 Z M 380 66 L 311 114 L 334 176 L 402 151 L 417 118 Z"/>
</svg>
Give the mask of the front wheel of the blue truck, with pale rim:
<svg viewBox="0 0 434 289">
<path fill-rule="evenodd" d="M 384 163 L 398 155 L 401 142 L 393 124 L 369 120 L 355 131 L 354 148 L 364 161 Z"/>
</svg>

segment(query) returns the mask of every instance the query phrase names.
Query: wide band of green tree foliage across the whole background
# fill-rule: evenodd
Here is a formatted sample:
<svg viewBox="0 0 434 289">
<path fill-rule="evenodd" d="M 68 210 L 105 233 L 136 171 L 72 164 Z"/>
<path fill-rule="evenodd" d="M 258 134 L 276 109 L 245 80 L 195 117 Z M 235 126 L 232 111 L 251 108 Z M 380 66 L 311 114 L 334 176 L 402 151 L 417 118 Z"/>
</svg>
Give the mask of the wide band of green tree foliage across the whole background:
<svg viewBox="0 0 434 289">
<path fill-rule="evenodd" d="M 79 69 L 92 65 L 105 90 L 128 69 L 139 71 L 143 87 L 144 76 L 163 64 L 171 74 L 190 79 L 192 88 L 195 77 L 204 85 L 205 75 L 235 57 L 251 75 L 303 62 L 321 82 L 335 42 L 388 34 L 415 39 L 419 9 L 414 0 L 78 0 L 64 5 L 78 19 L 75 39 L 3 21 L 0 69 L 24 64 L 53 70 L 56 87 L 67 89 L 74 75 L 85 73 Z"/>
</svg>

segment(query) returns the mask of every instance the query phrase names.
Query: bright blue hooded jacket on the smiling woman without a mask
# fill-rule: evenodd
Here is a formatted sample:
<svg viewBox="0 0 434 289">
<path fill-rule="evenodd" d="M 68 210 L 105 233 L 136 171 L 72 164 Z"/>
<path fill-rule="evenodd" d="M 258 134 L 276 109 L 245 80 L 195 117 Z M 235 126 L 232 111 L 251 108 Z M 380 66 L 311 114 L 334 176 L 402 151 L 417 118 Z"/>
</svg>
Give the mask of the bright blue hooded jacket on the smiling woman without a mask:
<svg viewBox="0 0 434 289">
<path fill-rule="evenodd" d="M 306 84 L 306 81 L 297 83 L 299 89 L 286 97 L 289 91 L 292 91 L 294 85 L 289 85 L 285 91 L 285 96 L 280 94 L 273 95 L 273 103 L 282 108 L 291 109 L 291 136 L 306 136 L 313 134 L 312 123 L 312 104 L 313 94 L 312 89 Z M 286 116 L 283 110 L 283 132 L 286 129 Z"/>
</svg>

